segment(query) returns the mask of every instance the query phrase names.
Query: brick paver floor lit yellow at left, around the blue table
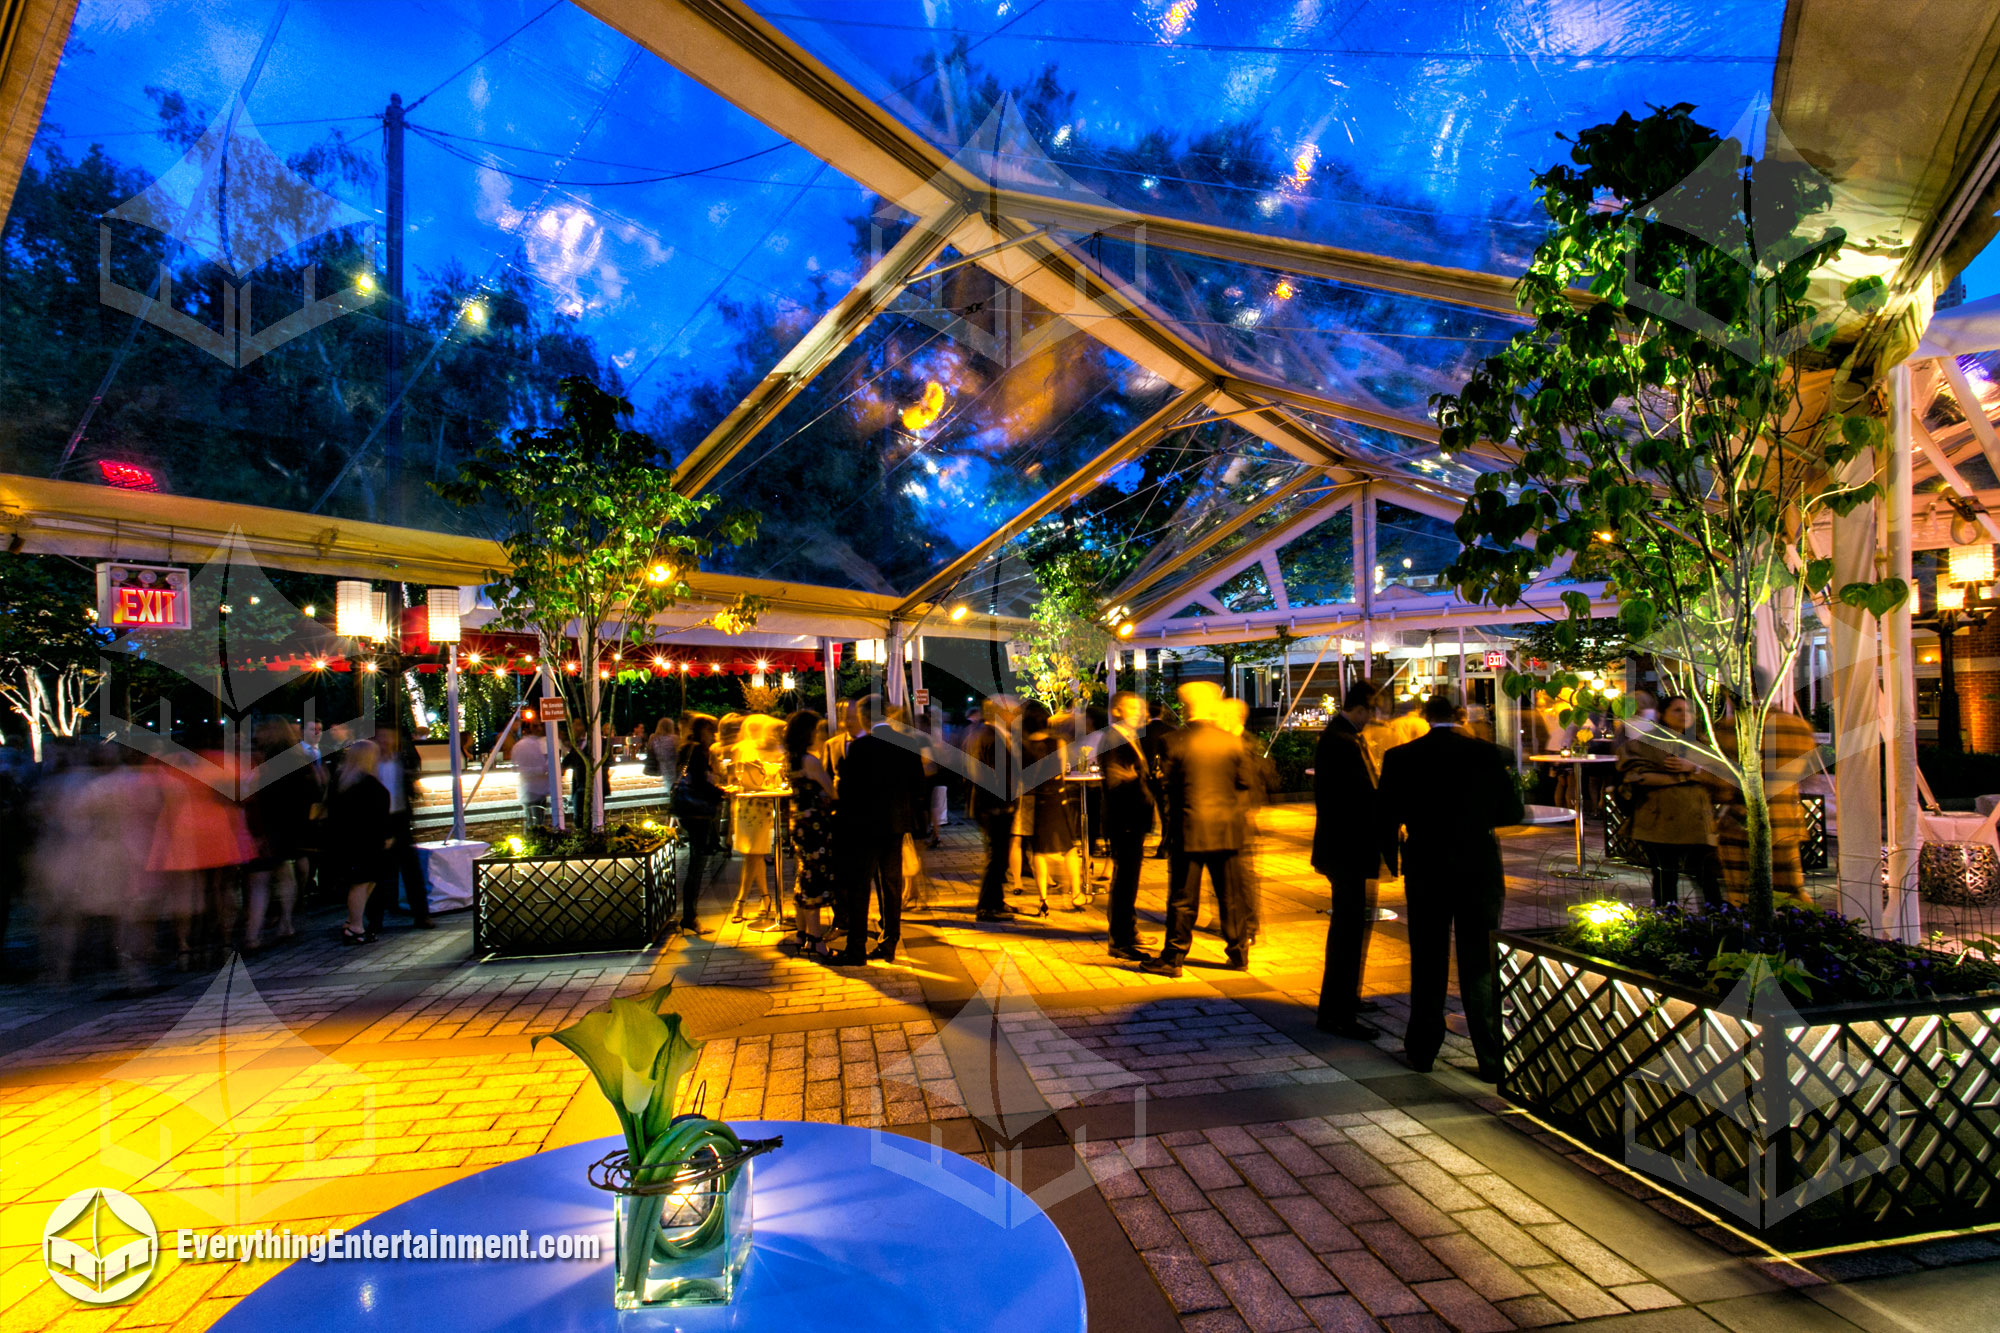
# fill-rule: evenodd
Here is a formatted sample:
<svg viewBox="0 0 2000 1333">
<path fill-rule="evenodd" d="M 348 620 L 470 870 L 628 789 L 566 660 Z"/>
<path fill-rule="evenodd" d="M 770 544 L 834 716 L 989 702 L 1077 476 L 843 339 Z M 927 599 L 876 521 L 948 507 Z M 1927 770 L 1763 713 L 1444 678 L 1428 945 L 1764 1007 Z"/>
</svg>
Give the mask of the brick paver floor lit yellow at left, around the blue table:
<svg viewBox="0 0 2000 1333">
<path fill-rule="evenodd" d="M 1462 1035 L 1438 1073 L 1410 1073 L 1400 883 L 1382 885 L 1366 979 L 1384 1037 L 1316 1033 L 1326 885 L 1306 865 L 1310 829 L 1308 807 L 1266 821 L 1248 971 L 1220 967 L 1208 921 L 1180 979 L 1110 959 L 1102 883 L 1084 911 L 1056 895 L 1048 917 L 976 923 L 982 851 L 954 825 L 926 851 L 894 965 L 830 969 L 782 931 L 728 921 L 728 865 L 704 897 L 712 933 L 636 955 L 474 963 L 462 915 L 342 949 L 320 913 L 296 943 L 140 999 L 108 997 L 104 975 L 14 987 L 0 993 L 0 1327 L 192 1333 L 278 1271 L 166 1251 L 140 1299 L 82 1307 L 48 1281 L 40 1227 L 84 1185 L 134 1193 L 164 1231 L 312 1231 L 614 1133 L 584 1069 L 532 1041 L 670 979 L 708 1037 L 692 1089 L 710 1111 L 878 1125 L 1056 1179 L 1038 1197 L 1094 1327 L 1938 1327 L 1896 1313 L 1910 1301 L 1950 1309 L 1954 1331 L 2000 1327 L 1996 1241 L 1792 1261 L 1510 1115 L 1466 1077 Z M 1548 871 L 1568 833 L 1504 847 L 1508 921 L 1560 919 L 1576 889 Z M 1150 943 L 1164 889 L 1148 861 Z M 1588 893 L 1646 887 L 1626 869 Z M 1032 885 L 1010 903 L 1034 905 Z"/>
</svg>

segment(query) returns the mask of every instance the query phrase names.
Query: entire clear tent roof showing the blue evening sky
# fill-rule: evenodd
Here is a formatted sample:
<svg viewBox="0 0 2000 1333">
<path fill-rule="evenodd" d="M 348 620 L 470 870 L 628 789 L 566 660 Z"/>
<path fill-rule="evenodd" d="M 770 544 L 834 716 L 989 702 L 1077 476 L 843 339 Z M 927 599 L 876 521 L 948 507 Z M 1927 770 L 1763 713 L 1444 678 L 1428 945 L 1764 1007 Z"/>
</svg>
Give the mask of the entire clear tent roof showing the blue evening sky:
<svg viewBox="0 0 2000 1333">
<path fill-rule="evenodd" d="M 940 238 L 722 448 L 738 404 L 772 394 L 774 368 L 916 234 L 862 162 L 812 156 L 754 98 L 734 104 L 588 4 L 82 0 L 0 238 L 0 470 L 140 466 L 182 494 L 478 530 L 428 482 L 548 420 L 556 380 L 586 372 L 632 398 L 664 462 L 720 448 L 706 488 L 766 518 L 726 572 L 1022 614 L 1026 552 L 1062 528 L 1102 556 L 1106 594 L 1172 596 L 1162 616 L 1198 596 L 1338 604 L 1354 594 L 1344 488 L 1456 502 L 1490 464 L 1438 454 L 1428 400 L 1520 322 L 1314 276 L 1286 242 L 1512 274 L 1540 234 L 1528 178 L 1562 156 L 1558 132 L 1668 100 L 1732 124 L 1768 96 L 1784 14 L 756 8 L 996 190 L 1226 228 L 1266 252 L 1024 222 L 1010 234 L 1034 228 L 1038 254 L 1124 302 L 1080 294 L 1056 312 L 1028 280 L 1046 258 L 1008 282 L 966 236 Z M 400 374 L 382 292 L 390 96 L 406 116 Z M 150 202 L 124 208 L 136 198 Z M 180 324 L 96 298 L 100 232 L 114 284 L 144 296 L 168 266 L 160 304 Z M 308 278 L 352 292 L 350 308 L 264 336 Z M 230 340 L 246 290 L 242 326 L 268 342 L 254 352 Z M 1134 312 L 1164 330 L 1164 360 L 1112 336 Z M 222 332 L 204 346 L 196 326 Z M 1194 380 L 1226 394 L 1188 398 L 1178 418 L 1194 424 L 1140 430 Z M 1034 522 L 988 540 L 1030 504 Z M 1416 594 L 1454 538 L 1402 512 L 1378 554 Z M 1262 544 L 1270 558 L 1244 564 Z"/>
</svg>

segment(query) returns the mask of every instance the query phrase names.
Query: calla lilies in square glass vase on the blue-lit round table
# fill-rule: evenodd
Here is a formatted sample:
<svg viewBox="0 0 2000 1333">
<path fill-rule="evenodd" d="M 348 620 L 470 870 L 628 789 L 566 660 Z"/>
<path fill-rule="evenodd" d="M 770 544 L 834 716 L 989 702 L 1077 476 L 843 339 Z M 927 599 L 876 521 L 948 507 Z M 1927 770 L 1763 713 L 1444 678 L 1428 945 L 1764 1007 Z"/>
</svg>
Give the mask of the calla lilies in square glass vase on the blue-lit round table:
<svg viewBox="0 0 2000 1333">
<path fill-rule="evenodd" d="M 678 1111 L 702 1043 L 688 1039 L 678 1013 L 662 1013 L 672 991 L 668 983 L 612 999 L 546 1033 L 584 1063 L 624 1133 L 624 1151 L 590 1171 L 592 1185 L 618 1197 L 620 1309 L 730 1299 L 750 1253 L 748 1163 L 782 1143 L 746 1143 L 722 1121 Z"/>
</svg>

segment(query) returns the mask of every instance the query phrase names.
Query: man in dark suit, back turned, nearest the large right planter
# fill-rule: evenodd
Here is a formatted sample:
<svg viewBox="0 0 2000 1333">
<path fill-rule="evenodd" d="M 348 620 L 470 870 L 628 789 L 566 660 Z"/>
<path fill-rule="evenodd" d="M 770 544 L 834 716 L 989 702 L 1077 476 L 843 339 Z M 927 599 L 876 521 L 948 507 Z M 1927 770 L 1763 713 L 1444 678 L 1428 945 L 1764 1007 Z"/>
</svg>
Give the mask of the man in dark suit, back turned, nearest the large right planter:
<svg viewBox="0 0 2000 1333">
<path fill-rule="evenodd" d="M 1428 1073 L 1444 1045 L 1444 991 L 1458 935 L 1458 997 L 1480 1059 L 1480 1079 L 1500 1079 L 1500 993 L 1492 933 L 1500 929 L 1506 873 L 1494 829 L 1522 819 L 1506 751 L 1458 727 L 1458 701 L 1438 691 L 1424 705 L 1430 733 L 1382 757 L 1376 793 L 1384 843 L 1402 847 L 1410 913 L 1410 1031 L 1402 1049 Z"/>
</svg>

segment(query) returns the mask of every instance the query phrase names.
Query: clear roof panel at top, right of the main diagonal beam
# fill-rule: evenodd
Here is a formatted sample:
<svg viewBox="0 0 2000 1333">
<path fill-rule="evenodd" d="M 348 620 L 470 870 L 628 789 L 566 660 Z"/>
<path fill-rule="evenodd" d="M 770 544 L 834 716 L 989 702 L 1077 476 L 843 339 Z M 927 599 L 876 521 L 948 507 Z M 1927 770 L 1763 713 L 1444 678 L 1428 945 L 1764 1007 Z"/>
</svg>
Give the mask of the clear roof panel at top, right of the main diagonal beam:
<svg viewBox="0 0 2000 1333">
<path fill-rule="evenodd" d="M 1768 98 L 1782 0 L 760 0 L 1006 186 L 1516 272 L 1558 132 Z"/>
</svg>

